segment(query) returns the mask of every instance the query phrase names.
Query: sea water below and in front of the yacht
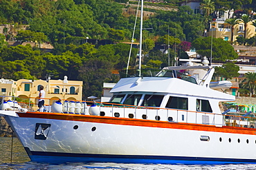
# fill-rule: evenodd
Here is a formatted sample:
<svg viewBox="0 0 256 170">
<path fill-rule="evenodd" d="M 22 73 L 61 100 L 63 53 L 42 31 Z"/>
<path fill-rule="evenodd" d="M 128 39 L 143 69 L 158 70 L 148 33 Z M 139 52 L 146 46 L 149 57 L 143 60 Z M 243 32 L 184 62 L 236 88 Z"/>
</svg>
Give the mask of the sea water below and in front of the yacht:
<svg viewBox="0 0 256 170">
<path fill-rule="evenodd" d="M 32 162 L 28 158 L 26 151 L 17 138 L 0 137 L 0 169 L 112 169 L 112 170 L 186 170 L 186 169 L 256 169 L 256 164 L 218 164 L 218 165 L 185 165 L 185 164 L 120 164 L 111 162 L 92 162 L 92 163 L 65 163 L 65 164 L 47 164 Z"/>
</svg>

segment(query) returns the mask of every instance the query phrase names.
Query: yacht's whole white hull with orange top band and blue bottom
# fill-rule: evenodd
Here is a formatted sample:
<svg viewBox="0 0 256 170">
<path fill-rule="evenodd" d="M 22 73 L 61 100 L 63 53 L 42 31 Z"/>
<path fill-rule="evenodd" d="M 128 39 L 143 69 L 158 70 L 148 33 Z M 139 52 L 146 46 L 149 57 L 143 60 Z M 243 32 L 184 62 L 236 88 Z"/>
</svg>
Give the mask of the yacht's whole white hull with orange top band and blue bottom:
<svg viewBox="0 0 256 170">
<path fill-rule="evenodd" d="M 256 129 L 44 112 L 1 116 L 37 162 L 256 162 Z"/>
</svg>

